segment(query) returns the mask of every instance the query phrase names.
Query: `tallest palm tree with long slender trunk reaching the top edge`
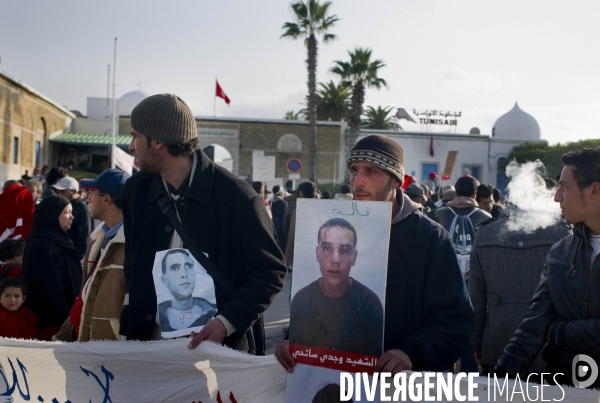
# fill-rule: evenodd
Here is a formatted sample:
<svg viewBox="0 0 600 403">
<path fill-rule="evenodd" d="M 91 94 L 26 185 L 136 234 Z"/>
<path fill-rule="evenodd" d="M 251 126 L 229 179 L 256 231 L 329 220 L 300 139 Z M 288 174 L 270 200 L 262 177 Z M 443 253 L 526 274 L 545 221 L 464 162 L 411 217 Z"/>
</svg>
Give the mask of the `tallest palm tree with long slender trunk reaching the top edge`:
<svg viewBox="0 0 600 403">
<path fill-rule="evenodd" d="M 317 99 L 316 99 L 316 75 L 317 75 L 317 35 L 322 35 L 323 43 L 336 38 L 334 34 L 327 31 L 339 20 L 336 15 L 327 15 L 331 2 L 319 3 L 319 0 L 300 0 L 292 3 L 295 22 L 283 24 L 284 33 L 281 37 L 306 38 L 308 57 L 306 64 L 308 68 L 308 120 L 310 127 L 310 180 L 317 178 Z"/>
</svg>

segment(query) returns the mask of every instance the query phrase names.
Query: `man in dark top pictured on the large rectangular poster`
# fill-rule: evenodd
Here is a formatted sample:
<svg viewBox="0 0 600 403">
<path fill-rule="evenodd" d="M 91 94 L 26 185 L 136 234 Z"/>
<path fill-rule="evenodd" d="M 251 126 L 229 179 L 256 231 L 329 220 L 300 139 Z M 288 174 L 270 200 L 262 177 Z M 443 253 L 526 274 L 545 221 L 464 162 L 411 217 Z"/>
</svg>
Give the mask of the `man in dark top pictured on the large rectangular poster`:
<svg viewBox="0 0 600 403">
<path fill-rule="evenodd" d="M 321 278 L 292 300 L 290 342 L 358 354 L 381 355 L 383 306 L 377 295 L 354 278 L 356 230 L 343 218 L 319 229 L 316 247 Z"/>
</svg>

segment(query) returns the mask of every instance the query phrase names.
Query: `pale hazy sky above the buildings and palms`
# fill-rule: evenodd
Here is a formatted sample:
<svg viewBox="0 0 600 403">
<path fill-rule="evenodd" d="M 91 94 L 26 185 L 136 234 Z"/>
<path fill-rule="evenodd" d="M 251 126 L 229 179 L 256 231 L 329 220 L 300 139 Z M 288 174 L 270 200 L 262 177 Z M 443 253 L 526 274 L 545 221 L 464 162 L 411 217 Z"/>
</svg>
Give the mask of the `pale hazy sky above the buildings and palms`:
<svg viewBox="0 0 600 403">
<path fill-rule="evenodd" d="M 217 77 L 231 104 L 217 99 L 216 116 L 281 119 L 307 93 L 304 42 L 280 38 L 290 4 L 2 0 L 0 70 L 85 114 L 87 97 L 107 94 L 117 37 L 117 98 L 175 93 L 211 116 Z M 389 88 L 367 89 L 365 106 L 460 111 L 457 133 L 491 134 L 518 102 L 551 144 L 600 138 L 599 1 L 337 0 L 330 13 L 338 39 L 319 43 L 317 81 L 372 49 Z"/>
</svg>

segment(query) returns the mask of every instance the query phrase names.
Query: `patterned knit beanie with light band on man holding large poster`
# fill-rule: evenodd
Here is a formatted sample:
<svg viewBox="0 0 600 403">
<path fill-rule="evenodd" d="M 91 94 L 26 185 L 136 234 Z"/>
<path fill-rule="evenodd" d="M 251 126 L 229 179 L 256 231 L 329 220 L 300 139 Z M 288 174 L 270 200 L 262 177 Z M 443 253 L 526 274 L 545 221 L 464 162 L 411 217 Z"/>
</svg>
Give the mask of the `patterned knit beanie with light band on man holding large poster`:
<svg viewBox="0 0 600 403">
<path fill-rule="evenodd" d="M 372 134 L 356 142 L 346 166 L 354 161 L 365 161 L 385 169 L 395 176 L 400 184 L 404 182 L 404 149 L 396 140 L 381 134 Z"/>
</svg>

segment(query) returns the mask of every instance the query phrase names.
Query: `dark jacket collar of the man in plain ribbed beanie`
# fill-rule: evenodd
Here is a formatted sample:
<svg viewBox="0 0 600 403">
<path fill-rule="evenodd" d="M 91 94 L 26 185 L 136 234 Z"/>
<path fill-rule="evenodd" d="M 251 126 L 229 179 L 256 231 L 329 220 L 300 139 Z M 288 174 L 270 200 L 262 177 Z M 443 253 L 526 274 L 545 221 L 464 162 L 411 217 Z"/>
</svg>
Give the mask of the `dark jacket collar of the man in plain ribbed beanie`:
<svg viewBox="0 0 600 403">
<path fill-rule="evenodd" d="M 208 204 L 215 166 L 202 150 L 196 151 L 196 156 L 198 158 L 198 163 L 196 165 L 192 183 L 185 192 L 185 195 L 182 196 L 186 199 L 193 199 Z M 154 203 L 160 196 L 166 194 L 167 190 L 165 189 L 161 176 L 157 173 L 153 174 L 150 192 L 148 193 L 148 203 Z"/>
</svg>

